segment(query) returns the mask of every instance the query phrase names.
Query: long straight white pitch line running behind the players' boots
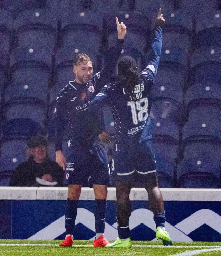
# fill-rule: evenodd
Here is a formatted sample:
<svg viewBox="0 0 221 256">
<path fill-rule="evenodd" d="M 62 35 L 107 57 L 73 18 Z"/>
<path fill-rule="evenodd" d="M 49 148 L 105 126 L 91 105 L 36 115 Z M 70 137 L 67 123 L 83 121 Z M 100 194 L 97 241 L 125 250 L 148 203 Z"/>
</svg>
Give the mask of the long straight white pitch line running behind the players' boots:
<svg viewBox="0 0 221 256">
<path fill-rule="evenodd" d="M 59 246 L 58 244 L 0 244 L 0 246 Z M 92 245 L 73 245 L 73 247 L 93 247 Z M 132 247 L 153 247 L 153 248 L 166 248 L 164 245 L 132 245 Z M 213 245 L 170 245 L 168 248 L 219 248 L 221 250 L 221 246 L 213 246 Z"/>
</svg>

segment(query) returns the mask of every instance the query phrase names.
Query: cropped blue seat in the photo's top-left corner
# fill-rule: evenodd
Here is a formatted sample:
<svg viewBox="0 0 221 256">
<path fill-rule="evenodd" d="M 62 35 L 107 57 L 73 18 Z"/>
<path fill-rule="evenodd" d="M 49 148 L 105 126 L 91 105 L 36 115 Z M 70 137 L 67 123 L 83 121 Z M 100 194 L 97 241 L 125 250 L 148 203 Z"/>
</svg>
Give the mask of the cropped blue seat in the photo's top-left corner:
<svg viewBox="0 0 221 256">
<path fill-rule="evenodd" d="M 10 11 L 13 18 L 25 9 L 40 7 L 41 0 L 1 0 L 1 8 Z"/>
</svg>

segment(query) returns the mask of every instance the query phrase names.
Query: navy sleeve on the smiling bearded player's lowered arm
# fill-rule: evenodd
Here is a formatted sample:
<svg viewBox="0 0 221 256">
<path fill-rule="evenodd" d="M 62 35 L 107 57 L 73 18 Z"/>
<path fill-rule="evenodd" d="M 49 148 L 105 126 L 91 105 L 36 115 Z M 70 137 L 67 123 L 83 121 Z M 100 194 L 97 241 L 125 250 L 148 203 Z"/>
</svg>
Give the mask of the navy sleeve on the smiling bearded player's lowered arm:
<svg viewBox="0 0 221 256">
<path fill-rule="evenodd" d="M 58 94 L 55 113 L 55 151 L 62 150 L 62 139 L 66 125 L 67 101 L 63 91 Z"/>
</svg>

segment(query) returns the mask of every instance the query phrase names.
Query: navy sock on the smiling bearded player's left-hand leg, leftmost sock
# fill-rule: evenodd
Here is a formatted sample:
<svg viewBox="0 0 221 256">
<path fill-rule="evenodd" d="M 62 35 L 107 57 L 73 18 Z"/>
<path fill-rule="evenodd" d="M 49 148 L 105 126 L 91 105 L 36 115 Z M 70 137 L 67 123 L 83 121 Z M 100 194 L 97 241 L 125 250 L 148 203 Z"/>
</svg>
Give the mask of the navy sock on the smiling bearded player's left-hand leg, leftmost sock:
<svg viewBox="0 0 221 256">
<path fill-rule="evenodd" d="M 75 227 L 75 219 L 77 216 L 78 200 L 68 198 L 65 211 L 65 234 L 73 234 Z"/>
</svg>

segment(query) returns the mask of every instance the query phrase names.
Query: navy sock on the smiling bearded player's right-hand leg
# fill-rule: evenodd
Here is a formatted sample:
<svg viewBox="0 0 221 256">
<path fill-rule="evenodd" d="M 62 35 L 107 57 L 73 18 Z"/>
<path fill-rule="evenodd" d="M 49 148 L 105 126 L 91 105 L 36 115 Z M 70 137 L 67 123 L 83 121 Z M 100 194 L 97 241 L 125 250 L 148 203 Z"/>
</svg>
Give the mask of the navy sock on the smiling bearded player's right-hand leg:
<svg viewBox="0 0 221 256">
<path fill-rule="evenodd" d="M 106 216 L 106 199 L 95 199 L 94 217 L 95 217 L 95 231 L 97 233 L 104 233 Z"/>
</svg>

